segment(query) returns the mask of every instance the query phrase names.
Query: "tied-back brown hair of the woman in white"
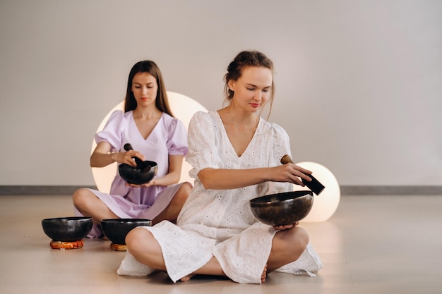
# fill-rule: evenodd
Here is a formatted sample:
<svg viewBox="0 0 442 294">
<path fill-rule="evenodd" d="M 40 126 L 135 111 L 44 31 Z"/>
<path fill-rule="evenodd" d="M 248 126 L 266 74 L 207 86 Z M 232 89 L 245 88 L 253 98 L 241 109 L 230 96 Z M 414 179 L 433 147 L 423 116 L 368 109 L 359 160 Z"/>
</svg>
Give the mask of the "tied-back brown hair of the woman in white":
<svg viewBox="0 0 442 294">
<path fill-rule="evenodd" d="M 228 102 L 230 102 L 234 94 L 234 92 L 229 88 L 229 81 L 230 80 L 236 81 L 239 78 L 241 78 L 242 71 L 244 71 L 244 68 L 251 66 L 264 67 L 270 69 L 270 71 L 272 71 L 272 78 L 273 78 L 273 62 L 270 59 L 268 59 L 268 57 L 265 56 L 262 52 L 254 50 L 239 52 L 239 54 L 234 58 L 234 60 L 229 64 L 229 66 L 227 66 L 227 73 L 224 76 L 224 81 L 225 81 L 224 91 Z M 270 97 L 269 97 L 270 111 L 272 109 L 274 96 L 275 96 L 275 84 L 272 79 L 272 88 L 270 90 Z"/>
</svg>

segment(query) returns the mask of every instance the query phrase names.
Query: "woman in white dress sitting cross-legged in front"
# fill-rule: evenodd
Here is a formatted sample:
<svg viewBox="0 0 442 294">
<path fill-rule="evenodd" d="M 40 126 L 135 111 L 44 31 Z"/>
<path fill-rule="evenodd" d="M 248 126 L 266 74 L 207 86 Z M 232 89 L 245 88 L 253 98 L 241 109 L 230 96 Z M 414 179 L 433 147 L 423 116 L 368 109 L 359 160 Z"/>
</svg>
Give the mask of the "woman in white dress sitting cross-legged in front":
<svg viewBox="0 0 442 294">
<path fill-rule="evenodd" d="M 298 223 L 272 227 L 257 221 L 249 200 L 293 190 L 311 171 L 280 164 L 290 154 L 289 137 L 260 117 L 273 102 L 273 63 L 258 51 L 243 51 L 225 75 L 228 106 L 196 113 L 189 124 L 194 188 L 177 225 L 162 221 L 126 237 L 128 251 L 117 271 L 146 275 L 167 271 L 172 281 L 194 274 L 262 283 L 270 271 L 309 274 L 322 264 Z"/>
</svg>

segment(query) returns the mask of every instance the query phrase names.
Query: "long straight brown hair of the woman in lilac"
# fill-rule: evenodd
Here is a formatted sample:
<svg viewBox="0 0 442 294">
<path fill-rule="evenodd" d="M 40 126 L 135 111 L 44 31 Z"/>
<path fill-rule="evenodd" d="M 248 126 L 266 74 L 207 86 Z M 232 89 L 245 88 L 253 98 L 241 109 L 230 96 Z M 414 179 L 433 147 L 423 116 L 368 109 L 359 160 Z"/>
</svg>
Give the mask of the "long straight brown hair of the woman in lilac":
<svg viewBox="0 0 442 294">
<path fill-rule="evenodd" d="M 173 116 L 169 107 L 169 99 L 167 99 L 165 82 L 162 79 L 160 68 L 158 68 L 155 62 L 150 60 L 139 61 L 132 67 L 131 72 L 129 73 L 129 79 L 127 81 L 126 99 L 124 99 L 124 112 L 136 109 L 137 103 L 132 92 L 132 81 L 133 77 L 137 73 L 149 73 L 155 78 L 155 80 L 157 80 L 158 91 L 155 99 L 155 106 L 157 106 L 157 109 L 160 109 L 160 111 Z"/>
</svg>

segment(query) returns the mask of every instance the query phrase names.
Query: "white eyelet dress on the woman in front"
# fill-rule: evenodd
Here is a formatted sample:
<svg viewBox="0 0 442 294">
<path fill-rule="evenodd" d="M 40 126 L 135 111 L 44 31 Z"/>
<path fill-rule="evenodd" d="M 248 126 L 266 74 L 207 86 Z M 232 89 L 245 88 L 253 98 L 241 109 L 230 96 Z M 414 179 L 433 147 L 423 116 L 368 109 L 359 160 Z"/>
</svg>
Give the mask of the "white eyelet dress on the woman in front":
<svg viewBox="0 0 442 294">
<path fill-rule="evenodd" d="M 167 274 L 172 281 L 191 274 L 215 257 L 225 274 L 237 283 L 261 283 L 261 274 L 277 232 L 253 216 L 249 200 L 276 192 L 293 190 L 291 183 L 266 182 L 230 190 L 208 190 L 198 179 L 205 168 L 255 169 L 280 165 L 290 154 L 289 137 L 279 125 L 260 119 L 244 154 L 237 156 L 216 111 L 196 113 L 189 124 L 189 154 L 194 188 L 179 214 L 177 225 L 162 221 L 143 227 L 160 243 Z M 280 268 L 292 274 L 313 273 L 322 268 L 309 244 L 295 262 Z M 120 275 L 141 276 L 153 269 L 136 261 L 131 252 L 117 271 Z"/>
</svg>

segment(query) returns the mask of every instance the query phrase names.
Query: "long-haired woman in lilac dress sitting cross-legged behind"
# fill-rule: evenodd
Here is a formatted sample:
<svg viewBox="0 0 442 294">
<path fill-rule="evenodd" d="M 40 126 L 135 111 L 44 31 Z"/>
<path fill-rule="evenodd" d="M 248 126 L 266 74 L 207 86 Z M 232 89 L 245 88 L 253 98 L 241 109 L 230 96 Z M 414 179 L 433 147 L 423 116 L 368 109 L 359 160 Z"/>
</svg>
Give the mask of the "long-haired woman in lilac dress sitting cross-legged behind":
<svg viewBox="0 0 442 294">
<path fill-rule="evenodd" d="M 160 69 L 153 61 L 136 63 L 129 73 L 123 111 L 114 111 L 95 135 L 97 147 L 90 166 L 114 162 L 136 166 L 133 157 L 157 163 L 157 174 L 143 185 L 127 184 L 117 173 L 110 194 L 80 188 L 73 193 L 77 216 L 92 216 L 94 227 L 88 235 L 101 238 L 102 219 L 151 219 L 176 222 L 191 191 L 191 183 L 178 183 L 187 154 L 184 124 L 172 116 Z M 133 150 L 124 150 L 129 143 Z"/>
</svg>

